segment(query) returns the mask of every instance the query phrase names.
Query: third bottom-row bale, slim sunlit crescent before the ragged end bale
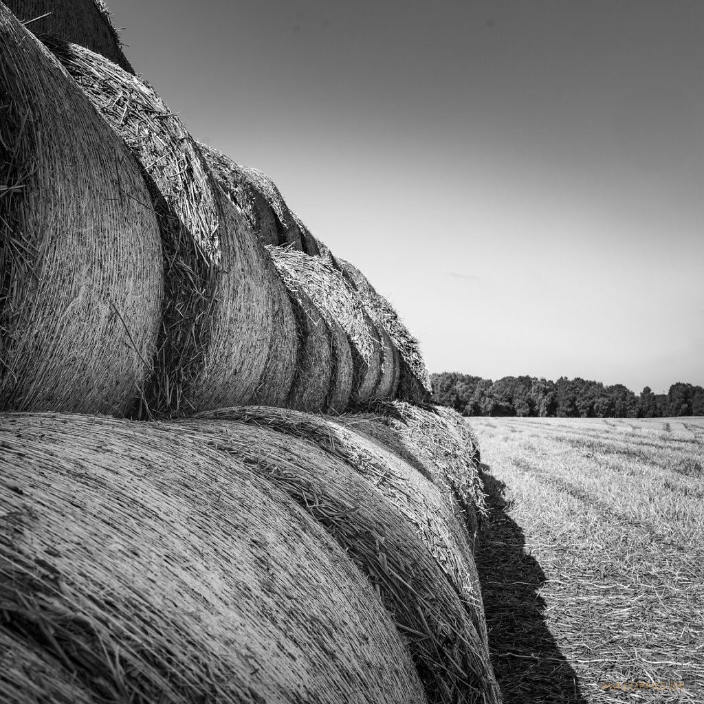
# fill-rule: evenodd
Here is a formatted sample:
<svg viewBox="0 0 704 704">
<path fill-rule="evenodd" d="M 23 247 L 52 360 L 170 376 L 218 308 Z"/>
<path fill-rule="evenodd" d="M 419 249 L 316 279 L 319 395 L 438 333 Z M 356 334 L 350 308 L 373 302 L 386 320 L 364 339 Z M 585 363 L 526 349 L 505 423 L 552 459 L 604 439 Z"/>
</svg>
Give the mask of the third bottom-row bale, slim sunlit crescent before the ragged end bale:
<svg viewBox="0 0 704 704">
<path fill-rule="evenodd" d="M 406 518 L 445 572 L 480 636 L 477 649 L 486 655 L 484 606 L 464 511 L 451 486 L 425 477 L 430 473 L 427 467 L 419 458 L 399 452 L 393 436 L 387 436 L 386 441 L 372 436 L 365 432 L 370 420 L 356 415 L 333 419 L 294 410 L 239 406 L 199 417 L 246 422 L 310 441 L 365 477 Z M 441 475 L 439 467 L 434 474 Z"/>
</svg>

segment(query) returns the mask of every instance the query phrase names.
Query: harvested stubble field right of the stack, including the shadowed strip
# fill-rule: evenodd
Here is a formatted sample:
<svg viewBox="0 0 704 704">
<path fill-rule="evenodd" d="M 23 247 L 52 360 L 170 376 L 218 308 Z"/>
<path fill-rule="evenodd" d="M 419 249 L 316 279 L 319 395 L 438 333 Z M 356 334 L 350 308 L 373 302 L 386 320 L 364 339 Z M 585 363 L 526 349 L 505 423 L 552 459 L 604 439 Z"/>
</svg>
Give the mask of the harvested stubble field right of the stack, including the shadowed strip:
<svg viewBox="0 0 704 704">
<path fill-rule="evenodd" d="M 468 420 L 505 704 L 704 703 L 704 418 Z"/>
</svg>

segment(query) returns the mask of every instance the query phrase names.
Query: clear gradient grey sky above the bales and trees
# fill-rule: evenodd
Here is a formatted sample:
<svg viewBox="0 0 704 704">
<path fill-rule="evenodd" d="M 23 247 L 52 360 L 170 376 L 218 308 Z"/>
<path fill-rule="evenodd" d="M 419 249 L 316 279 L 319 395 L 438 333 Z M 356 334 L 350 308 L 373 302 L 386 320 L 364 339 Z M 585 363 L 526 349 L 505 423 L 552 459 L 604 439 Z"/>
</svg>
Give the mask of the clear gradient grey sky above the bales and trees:
<svg viewBox="0 0 704 704">
<path fill-rule="evenodd" d="M 110 0 L 429 369 L 704 384 L 702 0 Z"/>
</svg>

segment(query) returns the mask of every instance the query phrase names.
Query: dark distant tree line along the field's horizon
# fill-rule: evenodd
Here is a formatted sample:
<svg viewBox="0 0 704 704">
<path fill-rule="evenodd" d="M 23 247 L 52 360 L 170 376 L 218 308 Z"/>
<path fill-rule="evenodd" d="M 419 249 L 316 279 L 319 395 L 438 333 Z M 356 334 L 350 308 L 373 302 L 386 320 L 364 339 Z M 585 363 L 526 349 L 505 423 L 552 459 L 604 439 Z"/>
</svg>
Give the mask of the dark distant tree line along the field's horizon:
<svg viewBox="0 0 704 704">
<path fill-rule="evenodd" d="M 623 384 L 605 386 L 560 377 L 472 377 L 458 372 L 431 375 L 434 402 L 462 415 L 517 415 L 562 418 L 659 418 L 704 415 L 704 388 L 677 382 L 667 394 L 646 386 L 640 396 Z"/>
</svg>

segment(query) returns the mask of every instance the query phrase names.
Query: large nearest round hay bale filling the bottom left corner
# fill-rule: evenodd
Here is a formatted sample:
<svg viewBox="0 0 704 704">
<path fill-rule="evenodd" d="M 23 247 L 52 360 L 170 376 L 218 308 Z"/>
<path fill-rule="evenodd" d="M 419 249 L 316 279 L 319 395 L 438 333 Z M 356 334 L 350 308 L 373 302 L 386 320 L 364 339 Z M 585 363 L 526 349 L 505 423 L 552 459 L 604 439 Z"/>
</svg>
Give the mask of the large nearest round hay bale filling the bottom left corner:
<svg viewBox="0 0 704 704">
<path fill-rule="evenodd" d="M 282 448 L 247 434 L 2 417 L 1 700 L 425 702 L 367 580 L 252 460 Z"/>
</svg>

